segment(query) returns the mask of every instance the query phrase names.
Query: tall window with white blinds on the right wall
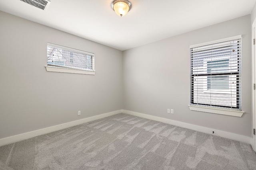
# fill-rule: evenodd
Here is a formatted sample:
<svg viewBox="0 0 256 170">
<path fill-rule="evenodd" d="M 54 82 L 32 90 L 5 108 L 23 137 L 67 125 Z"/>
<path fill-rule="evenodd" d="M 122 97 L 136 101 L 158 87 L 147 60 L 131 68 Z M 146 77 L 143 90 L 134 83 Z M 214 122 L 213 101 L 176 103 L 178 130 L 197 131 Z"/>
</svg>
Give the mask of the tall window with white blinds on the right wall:
<svg viewBox="0 0 256 170">
<path fill-rule="evenodd" d="M 241 39 L 190 46 L 190 105 L 241 110 Z"/>
</svg>

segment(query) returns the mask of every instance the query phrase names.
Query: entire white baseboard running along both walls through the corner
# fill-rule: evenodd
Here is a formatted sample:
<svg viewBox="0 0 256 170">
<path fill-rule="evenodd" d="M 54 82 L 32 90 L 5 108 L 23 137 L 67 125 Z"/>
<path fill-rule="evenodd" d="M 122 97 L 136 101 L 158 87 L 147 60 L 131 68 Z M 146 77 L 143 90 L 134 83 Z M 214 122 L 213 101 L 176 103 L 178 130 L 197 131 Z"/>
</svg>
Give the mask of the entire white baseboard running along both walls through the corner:
<svg viewBox="0 0 256 170">
<path fill-rule="evenodd" d="M 232 139 L 232 140 L 235 140 L 235 141 L 248 143 L 248 144 L 251 144 L 252 147 L 254 145 L 253 144 L 254 143 L 253 139 L 250 138 L 250 137 L 247 137 L 247 136 L 238 135 L 238 134 L 230 133 L 230 132 L 226 132 L 226 131 L 219 131 L 219 130 L 211 129 L 211 128 L 208 128 L 208 127 L 192 125 L 192 124 L 189 124 L 189 123 L 184 123 L 184 122 L 175 121 L 175 120 L 171 120 L 171 119 L 166 119 L 166 118 L 162 118 L 162 117 L 147 115 L 147 114 L 144 114 L 144 113 L 138 113 L 138 112 L 135 112 L 135 111 L 116 110 L 116 111 L 112 111 L 112 112 L 108 112 L 108 113 L 104 113 L 104 114 L 100 114 L 100 115 L 96 115 L 96 116 L 92 116 L 92 117 L 87 117 L 87 118 L 84 118 L 84 119 L 79 119 L 79 120 L 76 120 L 76 121 L 71 121 L 71 122 L 68 122 L 68 123 L 63 123 L 63 124 L 60 124 L 60 125 L 46 127 L 44 129 L 38 129 L 36 131 L 31 131 L 31 132 L 11 136 L 11 137 L 6 137 L 6 138 L 3 138 L 3 139 L 0 139 L 0 146 L 8 145 L 8 144 L 15 143 L 15 142 L 18 142 L 18 141 L 22 141 L 22 140 L 25 140 L 25 139 L 29 139 L 29 138 L 32 138 L 32 137 L 36 137 L 36 136 L 39 136 L 39 135 L 44 135 L 46 133 L 51 133 L 53 131 L 58 131 L 58 130 L 65 129 L 65 128 L 68 128 L 68 127 L 72 127 L 72 126 L 75 126 L 75 125 L 80 125 L 80 124 L 86 123 L 88 121 L 93 121 L 93 120 L 101 119 L 101 118 L 108 117 L 108 116 L 111 116 L 111 115 L 116 115 L 118 113 L 126 113 L 126 114 L 130 114 L 130 115 L 138 116 L 138 117 L 143 117 L 143 118 L 146 118 L 146 119 L 160 121 L 160 122 L 163 122 L 163 123 L 168 123 L 168 124 L 171 124 L 171 125 L 184 127 L 184 128 L 192 129 L 192 130 L 195 130 L 195 131 L 208 133 L 210 135 L 215 135 L 215 134 L 212 134 L 212 131 L 214 131 L 214 133 L 217 134 L 216 136 L 220 136 L 220 137 Z"/>
</svg>

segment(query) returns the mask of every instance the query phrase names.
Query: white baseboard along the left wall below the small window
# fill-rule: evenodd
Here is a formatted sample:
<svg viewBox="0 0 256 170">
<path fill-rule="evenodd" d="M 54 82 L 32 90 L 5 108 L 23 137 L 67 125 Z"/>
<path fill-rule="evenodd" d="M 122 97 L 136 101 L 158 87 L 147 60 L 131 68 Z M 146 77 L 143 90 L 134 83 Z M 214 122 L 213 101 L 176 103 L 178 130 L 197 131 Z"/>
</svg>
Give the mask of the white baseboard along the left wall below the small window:
<svg viewBox="0 0 256 170">
<path fill-rule="evenodd" d="M 36 131 L 31 131 L 31 132 L 11 136 L 11 137 L 2 138 L 2 139 L 0 139 L 0 146 L 8 145 L 8 144 L 15 143 L 15 142 L 18 142 L 18 141 L 22 141 L 22 140 L 25 140 L 25 139 L 29 139 L 29 138 L 32 138 L 32 137 L 36 137 L 36 136 L 39 136 L 39 135 L 44 135 L 46 133 L 58 131 L 58 130 L 65 129 L 65 128 L 68 128 L 68 127 L 80 125 L 80 124 L 86 123 L 88 121 L 93 121 L 93 120 L 96 120 L 96 119 L 101 119 L 101 118 L 104 118 L 104 117 L 116 115 L 118 113 L 122 113 L 122 110 L 116 110 L 116 111 L 112 111 L 112 112 L 108 112 L 108 113 L 104 113 L 104 114 L 100 114 L 100 115 L 96 115 L 96 116 L 92 116 L 92 117 L 87 117 L 87 118 L 84 118 L 84 119 L 79 119 L 79 120 L 76 120 L 76 121 L 70 121 L 68 123 L 63 123 L 63 124 L 60 124 L 60 125 L 46 127 L 44 129 L 38 129 Z"/>
</svg>

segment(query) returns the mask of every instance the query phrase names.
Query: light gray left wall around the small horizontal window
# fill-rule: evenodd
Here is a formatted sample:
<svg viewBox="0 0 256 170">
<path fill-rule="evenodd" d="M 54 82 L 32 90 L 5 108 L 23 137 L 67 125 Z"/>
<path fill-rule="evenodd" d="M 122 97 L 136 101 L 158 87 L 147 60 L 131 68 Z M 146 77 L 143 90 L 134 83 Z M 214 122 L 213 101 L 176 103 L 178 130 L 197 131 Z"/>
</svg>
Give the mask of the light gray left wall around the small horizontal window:
<svg viewBox="0 0 256 170">
<path fill-rule="evenodd" d="M 47 72 L 47 42 L 95 53 L 96 74 Z M 0 139 L 122 109 L 122 81 L 122 51 L 0 12 Z"/>
</svg>

